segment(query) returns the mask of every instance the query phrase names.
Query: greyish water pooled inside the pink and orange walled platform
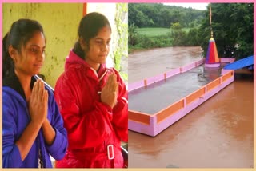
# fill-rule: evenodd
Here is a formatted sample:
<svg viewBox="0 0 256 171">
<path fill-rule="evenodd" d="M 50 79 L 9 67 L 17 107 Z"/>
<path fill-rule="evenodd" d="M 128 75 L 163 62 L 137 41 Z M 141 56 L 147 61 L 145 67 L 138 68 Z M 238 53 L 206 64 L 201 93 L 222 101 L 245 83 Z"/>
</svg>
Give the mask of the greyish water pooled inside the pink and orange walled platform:
<svg viewBox="0 0 256 171">
<path fill-rule="evenodd" d="M 129 92 L 129 109 L 148 114 L 157 113 L 214 81 L 221 75 L 221 70 L 222 67 L 207 68 L 201 65 L 146 88 L 135 89 Z"/>
</svg>

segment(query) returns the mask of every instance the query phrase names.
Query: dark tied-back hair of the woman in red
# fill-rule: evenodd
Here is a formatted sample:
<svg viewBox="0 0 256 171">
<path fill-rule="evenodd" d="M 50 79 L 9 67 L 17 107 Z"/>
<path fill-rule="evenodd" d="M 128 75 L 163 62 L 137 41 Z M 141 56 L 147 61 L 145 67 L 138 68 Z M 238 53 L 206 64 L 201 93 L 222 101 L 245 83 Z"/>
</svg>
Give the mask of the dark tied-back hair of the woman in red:
<svg viewBox="0 0 256 171">
<path fill-rule="evenodd" d="M 101 30 L 104 26 L 110 27 L 110 22 L 104 15 L 97 12 L 86 14 L 80 21 L 78 27 L 78 39 L 83 38 L 89 47 L 90 39 L 97 36 L 98 31 Z M 84 50 L 82 50 L 79 40 L 74 44 L 73 51 L 75 54 L 78 54 L 80 58 L 85 59 L 86 54 Z"/>
</svg>

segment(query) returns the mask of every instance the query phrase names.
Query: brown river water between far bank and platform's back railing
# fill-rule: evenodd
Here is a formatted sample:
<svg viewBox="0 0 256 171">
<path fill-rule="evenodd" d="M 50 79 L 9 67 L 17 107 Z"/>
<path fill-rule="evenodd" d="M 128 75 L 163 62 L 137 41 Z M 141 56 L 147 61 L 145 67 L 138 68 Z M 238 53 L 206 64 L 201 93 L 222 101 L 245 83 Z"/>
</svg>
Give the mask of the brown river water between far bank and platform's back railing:
<svg viewBox="0 0 256 171">
<path fill-rule="evenodd" d="M 202 54 L 199 46 L 167 47 L 129 54 L 129 84 L 165 73 L 179 66 L 198 61 Z"/>
</svg>

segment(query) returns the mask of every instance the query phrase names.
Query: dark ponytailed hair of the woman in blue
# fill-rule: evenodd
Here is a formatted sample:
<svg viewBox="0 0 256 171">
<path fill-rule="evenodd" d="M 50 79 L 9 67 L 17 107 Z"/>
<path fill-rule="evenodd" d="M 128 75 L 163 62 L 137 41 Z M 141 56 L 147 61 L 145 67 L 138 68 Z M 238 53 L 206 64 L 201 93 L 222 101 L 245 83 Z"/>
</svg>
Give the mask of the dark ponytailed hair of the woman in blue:
<svg viewBox="0 0 256 171">
<path fill-rule="evenodd" d="M 35 20 L 19 19 L 11 25 L 10 31 L 2 39 L 2 78 L 6 78 L 10 70 L 14 70 L 14 62 L 10 58 L 8 50 L 9 46 L 13 46 L 14 49 L 21 52 L 22 46 L 26 45 L 36 31 L 43 34 L 41 24 Z"/>
</svg>

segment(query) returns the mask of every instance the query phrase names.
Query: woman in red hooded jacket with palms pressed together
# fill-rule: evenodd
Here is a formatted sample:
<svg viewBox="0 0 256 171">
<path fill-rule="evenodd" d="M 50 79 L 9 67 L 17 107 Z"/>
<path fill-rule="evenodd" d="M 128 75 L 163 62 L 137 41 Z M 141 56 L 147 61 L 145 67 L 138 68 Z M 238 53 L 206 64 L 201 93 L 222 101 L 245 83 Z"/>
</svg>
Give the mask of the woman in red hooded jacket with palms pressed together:
<svg viewBox="0 0 256 171">
<path fill-rule="evenodd" d="M 78 36 L 55 86 L 69 141 L 56 167 L 121 168 L 120 143 L 128 141 L 128 94 L 118 71 L 105 66 L 110 23 L 102 14 L 86 14 Z"/>
</svg>

